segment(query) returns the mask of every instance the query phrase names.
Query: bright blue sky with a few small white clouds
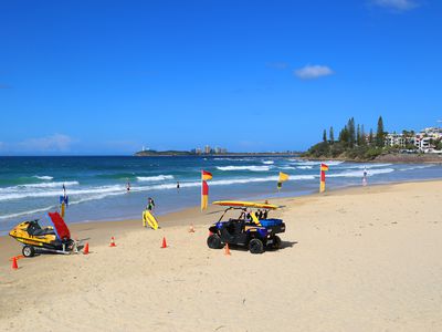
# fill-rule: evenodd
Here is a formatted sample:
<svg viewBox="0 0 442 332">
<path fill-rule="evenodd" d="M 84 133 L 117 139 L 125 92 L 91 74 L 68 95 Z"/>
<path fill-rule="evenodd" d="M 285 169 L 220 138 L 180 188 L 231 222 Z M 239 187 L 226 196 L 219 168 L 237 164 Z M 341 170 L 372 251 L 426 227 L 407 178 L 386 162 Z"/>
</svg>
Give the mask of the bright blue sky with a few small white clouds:
<svg viewBox="0 0 442 332">
<path fill-rule="evenodd" d="M 1 1 L 0 154 L 305 149 L 442 118 L 442 3 Z"/>
</svg>

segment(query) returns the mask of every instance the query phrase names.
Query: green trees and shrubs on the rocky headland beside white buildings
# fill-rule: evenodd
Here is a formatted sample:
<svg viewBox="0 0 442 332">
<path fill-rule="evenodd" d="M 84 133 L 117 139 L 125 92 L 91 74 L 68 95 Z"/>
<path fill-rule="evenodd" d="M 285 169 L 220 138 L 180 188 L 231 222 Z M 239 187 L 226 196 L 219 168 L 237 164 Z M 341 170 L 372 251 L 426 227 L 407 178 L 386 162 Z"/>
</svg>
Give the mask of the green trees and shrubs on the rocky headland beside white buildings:
<svg viewBox="0 0 442 332">
<path fill-rule="evenodd" d="M 351 117 L 339 132 L 338 141 L 335 141 L 333 127 L 329 129 L 329 139 L 327 139 L 327 132 L 324 129 L 323 142 L 312 146 L 303 156 L 313 158 L 371 160 L 381 154 L 392 152 L 392 149 L 385 147 L 386 134 L 387 133 L 383 132 L 382 116 L 379 116 L 376 136 L 372 129 L 370 129 L 370 133 L 367 135 L 365 133 L 365 126 L 360 124 L 356 125 L 355 118 Z"/>
</svg>

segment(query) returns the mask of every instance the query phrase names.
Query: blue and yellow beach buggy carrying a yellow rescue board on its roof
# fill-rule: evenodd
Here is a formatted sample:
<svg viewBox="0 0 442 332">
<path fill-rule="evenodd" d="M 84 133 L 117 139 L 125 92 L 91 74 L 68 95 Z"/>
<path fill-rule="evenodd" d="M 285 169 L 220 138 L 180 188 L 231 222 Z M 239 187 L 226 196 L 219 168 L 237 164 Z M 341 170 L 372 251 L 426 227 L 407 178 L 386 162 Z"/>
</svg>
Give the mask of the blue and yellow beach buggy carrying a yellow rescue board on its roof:
<svg viewBox="0 0 442 332">
<path fill-rule="evenodd" d="M 238 245 L 249 248 L 251 253 L 263 253 L 265 249 L 280 249 L 281 238 L 277 234 L 285 231 L 285 224 L 282 219 L 269 218 L 269 212 L 278 206 L 236 200 L 213 201 L 213 204 L 224 206 L 227 209 L 218 222 L 209 228 L 211 232 L 207 239 L 209 248 L 221 249 L 225 243 Z M 224 218 L 232 211 L 236 212 L 235 218 Z"/>
</svg>

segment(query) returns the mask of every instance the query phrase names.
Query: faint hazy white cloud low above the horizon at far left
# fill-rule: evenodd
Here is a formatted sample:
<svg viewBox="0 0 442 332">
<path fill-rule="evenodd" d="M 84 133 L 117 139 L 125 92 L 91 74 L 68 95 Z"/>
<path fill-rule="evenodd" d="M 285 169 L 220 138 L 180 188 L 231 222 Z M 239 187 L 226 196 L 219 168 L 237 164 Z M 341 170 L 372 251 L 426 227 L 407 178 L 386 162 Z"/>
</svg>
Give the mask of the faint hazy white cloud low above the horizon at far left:
<svg viewBox="0 0 442 332">
<path fill-rule="evenodd" d="M 63 134 L 52 136 L 29 138 L 17 144 L 18 151 L 48 153 L 48 152 L 67 152 L 74 141 Z"/>
</svg>

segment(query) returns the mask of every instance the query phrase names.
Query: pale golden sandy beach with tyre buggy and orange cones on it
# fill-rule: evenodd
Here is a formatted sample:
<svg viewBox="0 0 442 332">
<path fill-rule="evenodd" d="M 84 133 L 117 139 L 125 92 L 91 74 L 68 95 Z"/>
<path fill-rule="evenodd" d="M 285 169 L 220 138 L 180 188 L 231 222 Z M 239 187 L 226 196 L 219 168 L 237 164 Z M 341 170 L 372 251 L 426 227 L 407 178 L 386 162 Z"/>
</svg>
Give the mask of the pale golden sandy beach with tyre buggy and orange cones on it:
<svg viewBox="0 0 442 332">
<path fill-rule="evenodd" d="M 73 225 L 91 255 L 20 259 L 17 271 L 8 260 L 21 248 L 2 237 L 0 330 L 441 331 L 441 188 L 272 201 L 287 230 L 263 255 L 207 247 L 219 207 L 159 217 L 158 231 L 139 220 Z"/>
</svg>

